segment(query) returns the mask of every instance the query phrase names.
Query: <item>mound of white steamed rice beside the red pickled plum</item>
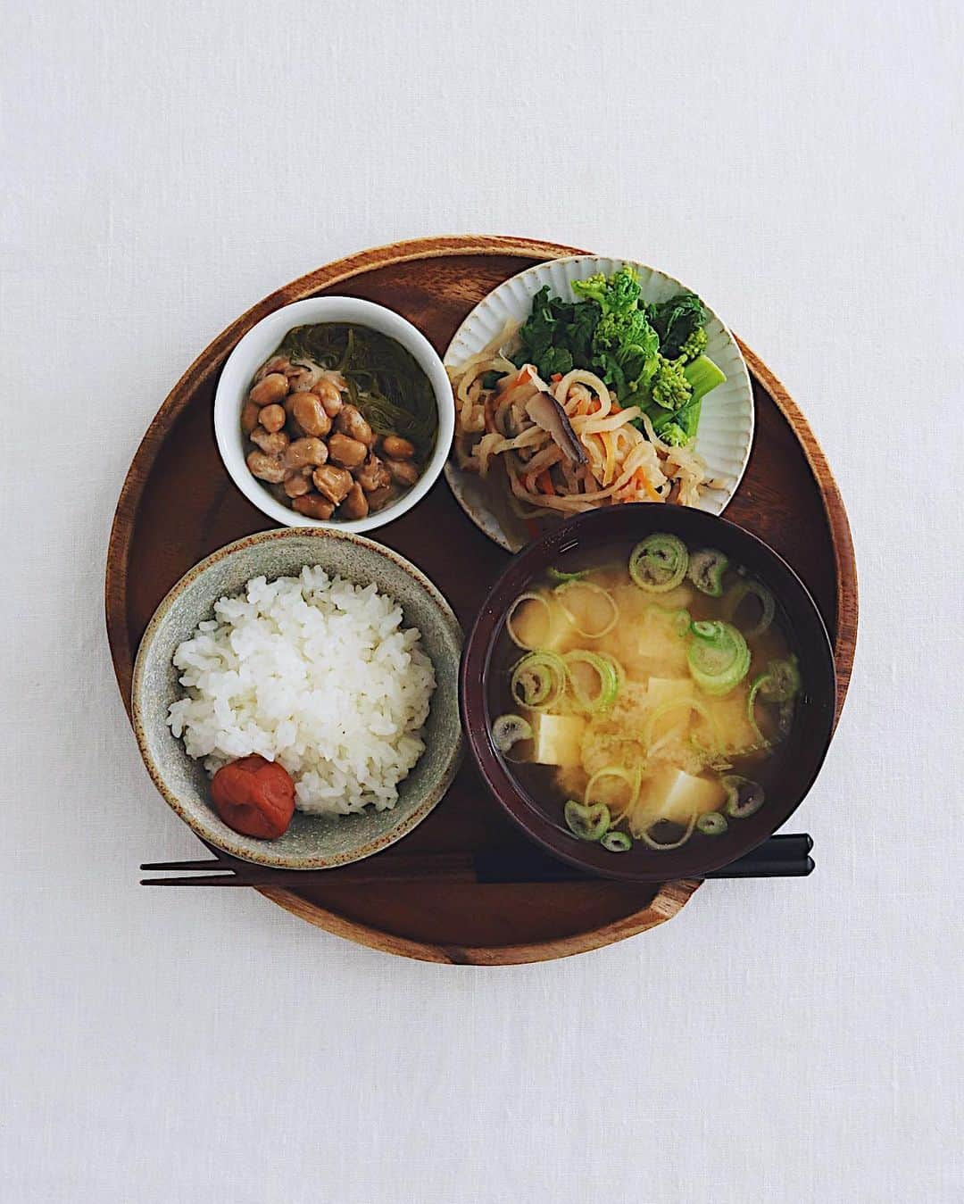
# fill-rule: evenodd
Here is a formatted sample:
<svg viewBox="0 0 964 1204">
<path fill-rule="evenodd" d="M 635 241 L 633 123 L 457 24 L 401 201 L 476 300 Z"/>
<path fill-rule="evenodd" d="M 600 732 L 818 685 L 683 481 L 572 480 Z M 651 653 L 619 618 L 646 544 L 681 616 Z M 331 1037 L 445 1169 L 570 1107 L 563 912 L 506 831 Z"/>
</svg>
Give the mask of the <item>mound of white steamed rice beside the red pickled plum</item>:
<svg viewBox="0 0 964 1204">
<path fill-rule="evenodd" d="M 255 577 L 178 645 L 185 697 L 167 722 L 212 777 L 259 752 L 295 781 L 298 810 L 395 805 L 421 756 L 436 687 L 416 627 L 374 585 L 306 566 Z"/>
</svg>

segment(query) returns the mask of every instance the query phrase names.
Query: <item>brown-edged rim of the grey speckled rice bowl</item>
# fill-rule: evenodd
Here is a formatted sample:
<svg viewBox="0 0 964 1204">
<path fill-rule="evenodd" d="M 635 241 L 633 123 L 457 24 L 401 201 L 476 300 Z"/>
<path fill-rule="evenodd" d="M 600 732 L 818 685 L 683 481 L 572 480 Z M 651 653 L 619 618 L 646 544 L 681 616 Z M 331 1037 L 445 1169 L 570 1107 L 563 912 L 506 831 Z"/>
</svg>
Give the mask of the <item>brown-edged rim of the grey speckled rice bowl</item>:
<svg viewBox="0 0 964 1204">
<path fill-rule="evenodd" d="M 196 565 L 193 565 L 188 572 L 171 586 L 171 589 L 158 603 L 154 614 L 150 616 L 150 620 L 141 636 L 137 645 L 137 656 L 134 661 L 134 672 L 131 675 L 131 726 L 134 727 L 134 734 L 137 740 L 137 748 L 141 752 L 141 760 L 143 761 L 144 768 L 150 775 L 150 780 L 154 783 L 158 792 L 165 799 L 167 805 L 175 811 L 175 814 L 178 815 L 188 825 L 188 827 L 191 828 L 195 836 L 200 837 L 206 844 L 214 845 L 224 852 L 230 854 L 232 857 L 237 857 L 239 861 L 247 861 L 259 866 L 268 866 L 273 869 L 333 869 L 338 866 L 362 861 L 366 857 L 371 857 L 374 854 L 380 852 L 383 849 L 388 849 L 389 845 L 401 840 L 402 837 L 407 836 L 413 828 L 415 828 L 438 805 L 438 803 L 442 802 L 451 786 L 453 780 L 455 779 L 455 774 L 459 771 L 459 766 L 465 752 L 465 736 L 461 727 L 459 737 L 453 744 L 451 751 L 444 762 L 444 768 L 436 784 L 430 791 L 426 792 L 425 798 L 421 799 L 412 814 L 406 816 L 403 820 L 400 820 L 398 824 L 396 824 L 396 826 L 389 832 L 374 840 L 368 842 L 368 844 L 362 845 L 360 850 L 353 852 L 335 856 L 308 855 L 290 857 L 280 855 L 277 851 L 277 846 L 270 840 L 264 842 L 264 851 L 260 848 L 250 850 L 247 846 L 242 848 L 235 844 L 230 839 L 224 840 L 217 834 L 212 834 L 202 820 L 200 820 L 188 807 L 185 807 L 167 785 L 161 767 L 156 763 L 148 745 L 144 727 L 144 714 L 141 703 L 147 651 L 159 627 L 167 618 L 171 607 L 177 602 L 184 590 L 187 590 L 188 586 L 191 585 L 212 565 L 215 565 L 221 560 L 230 559 L 235 553 L 241 551 L 244 548 L 273 542 L 284 542 L 286 539 L 301 537 L 345 539 L 349 543 L 368 548 L 382 554 L 385 559 L 391 560 L 398 568 L 407 572 L 415 580 L 415 583 L 421 586 L 421 589 L 425 590 L 431 601 L 434 603 L 436 609 L 439 612 L 439 615 L 445 624 L 449 635 L 455 641 L 456 647 L 462 644 L 462 627 L 445 596 L 416 565 L 413 565 L 410 560 L 407 560 L 394 548 L 386 548 L 375 539 L 369 539 L 350 531 L 331 530 L 326 527 L 274 527 L 268 531 L 258 531 L 253 535 L 242 536 L 239 539 L 233 539 L 231 543 L 227 543 L 221 548 L 217 548 L 202 560 L 199 560 Z M 187 752 L 184 755 L 187 756 Z"/>
</svg>

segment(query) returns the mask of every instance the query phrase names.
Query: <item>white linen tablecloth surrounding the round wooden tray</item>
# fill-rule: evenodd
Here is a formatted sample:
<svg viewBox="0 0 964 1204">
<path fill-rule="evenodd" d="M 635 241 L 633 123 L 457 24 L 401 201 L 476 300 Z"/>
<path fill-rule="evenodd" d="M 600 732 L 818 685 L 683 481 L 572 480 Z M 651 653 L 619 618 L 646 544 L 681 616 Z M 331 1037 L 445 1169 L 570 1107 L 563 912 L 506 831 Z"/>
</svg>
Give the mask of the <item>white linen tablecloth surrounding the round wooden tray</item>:
<svg viewBox="0 0 964 1204">
<path fill-rule="evenodd" d="M 0 1199 L 964 1198 L 959 7 L 2 10 Z M 814 877 L 501 970 L 138 889 L 199 846 L 102 618 L 199 350 L 330 259 L 462 231 L 699 289 L 806 413 L 862 586 L 793 821 Z"/>
</svg>

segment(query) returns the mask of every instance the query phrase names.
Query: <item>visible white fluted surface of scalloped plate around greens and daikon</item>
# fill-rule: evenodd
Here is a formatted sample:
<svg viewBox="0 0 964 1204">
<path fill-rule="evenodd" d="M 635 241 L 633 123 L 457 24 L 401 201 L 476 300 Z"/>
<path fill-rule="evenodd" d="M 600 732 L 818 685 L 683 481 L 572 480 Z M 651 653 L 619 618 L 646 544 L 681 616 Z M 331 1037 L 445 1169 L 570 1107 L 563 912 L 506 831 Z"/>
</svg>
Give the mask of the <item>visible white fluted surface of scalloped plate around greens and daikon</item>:
<svg viewBox="0 0 964 1204">
<path fill-rule="evenodd" d="M 631 259 L 598 255 L 551 259 L 510 277 L 483 297 L 449 343 L 444 355 L 446 367 L 456 367 L 469 355 L 475 355 L 502 334 L 508 321 L 525 321 L 532 308 L 532 297 L 544 284 L 549 285 L 554 296 L 569 299 L 573 296 L 569 288 L 573 281 L 585 279 L 593 272 L 609 276 L 623 264 L 635 268 L 646 301 L 664 301 L 686 288 L 672 276 Z M 706 305 L 705 301 L 703 303 Z M 722 514 L 750 459 L 753 393 L 737 340 L 709 306 L 706 312 L 706 354 L 726 372 L 727 379 L 703 402 L 696 449 L 706 461 L 709 476 L 725 482 L 725 488 L 706 490 L 699 509 Z M 508 485 L 501 472 L 493 474 L 493 479 L 480 480 L 474 473 L 462 472 L 454 459 L 449 459 L 445 479 L 472 521 L 508 551 L 518 551 L 532 538 L 532 530 L 527 530 L 509 508 Z"/>
</svg>

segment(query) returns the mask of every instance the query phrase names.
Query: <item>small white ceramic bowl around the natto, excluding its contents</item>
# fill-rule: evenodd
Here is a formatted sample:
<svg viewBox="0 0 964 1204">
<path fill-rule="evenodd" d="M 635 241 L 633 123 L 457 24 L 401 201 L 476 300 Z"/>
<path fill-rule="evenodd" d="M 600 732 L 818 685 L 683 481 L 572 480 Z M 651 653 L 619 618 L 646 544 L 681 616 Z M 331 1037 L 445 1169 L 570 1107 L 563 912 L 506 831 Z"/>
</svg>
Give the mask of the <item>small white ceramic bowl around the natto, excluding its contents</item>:
<svg viewBox="0 0 964 1204">
<path fill-rule="evenodd" d="M 298 514 L 272 496 L 271 491 L 252 476 L 244 462 L 246 441 L 241 432 L 241 407 L 252 377 L 289 330 L 319 321 L 355 323 L 396 340 L 415 356 L 428 377 L 436 399 L 438 433 L 434 450 L 421 477 L 397 501 L 363 519 L 323 521 Z M 445 465 L 454 433 L 455 407 L 451 401 L 451 386 L 432 344 L 401 314 L 357 297 L 308 297 L 307 301 L 295 301 L 262 318 L 238 341 L 227 356 L 214 395 L 214 437 L 225 468 L 248 501 L 283 526 L 332 527 L 338 531 L 360 532 L 373 531 L 386 523 L 392 523 L 406 510 L 410 510 L 436 483 Z"/>
</svg>

